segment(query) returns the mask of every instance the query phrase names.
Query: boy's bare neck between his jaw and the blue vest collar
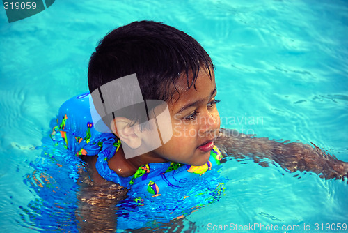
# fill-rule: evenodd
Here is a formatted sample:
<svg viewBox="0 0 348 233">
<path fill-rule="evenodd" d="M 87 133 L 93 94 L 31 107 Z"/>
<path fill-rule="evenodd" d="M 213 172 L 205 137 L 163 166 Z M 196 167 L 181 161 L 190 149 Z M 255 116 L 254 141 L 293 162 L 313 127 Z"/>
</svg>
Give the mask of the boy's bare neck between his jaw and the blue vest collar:
<svg viewBox="0 0 348 233">
<path fill-rule="evenodd" d="M 126 159 L 125 153 L 123 152 L 122 146 L 115 155 L 109 159 L 108 165 L 111 170 L 115 171 L 116 174 L 122 177 L 132 176 L 139 167 L 147 163 L 165 163 L 168 162 L 164 158 L 152 157 L 147 153 L 136 156 L 133 158 Z"/>
</svg>

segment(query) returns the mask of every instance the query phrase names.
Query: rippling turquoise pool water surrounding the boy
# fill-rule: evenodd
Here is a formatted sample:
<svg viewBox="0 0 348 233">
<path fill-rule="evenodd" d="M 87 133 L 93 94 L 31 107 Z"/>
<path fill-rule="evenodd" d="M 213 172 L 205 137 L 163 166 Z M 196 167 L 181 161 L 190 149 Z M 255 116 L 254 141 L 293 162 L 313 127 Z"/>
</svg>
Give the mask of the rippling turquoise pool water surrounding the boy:
<svg viewBox="0 0 348 233">
<path fill-rule="evenodd" d="M 3 232 L 76 231 L 72 168 L 41 166 L 66 163 L 43 155 L 42 146 L 58 107 L 88 89 L 88 59 L 97 41 L 134 20 L 170 24 L 205 47 L 216 66 L 223 127 L 313 142 L 348 161 L 347 1 L 56 1 L 10 24 L 1 10 Z M 26 178 L 43 167 L 61 188 L 56 196 L 48 190 L 38 195 Z M 348 223 L 347 182 L 249 160 L 229 160 L 223 175 L 230 179 L 225 195 L 185 218 L 184 230 L 260 223 L 311 224 L 315 232 L 315 223 Z"/>
</svg>

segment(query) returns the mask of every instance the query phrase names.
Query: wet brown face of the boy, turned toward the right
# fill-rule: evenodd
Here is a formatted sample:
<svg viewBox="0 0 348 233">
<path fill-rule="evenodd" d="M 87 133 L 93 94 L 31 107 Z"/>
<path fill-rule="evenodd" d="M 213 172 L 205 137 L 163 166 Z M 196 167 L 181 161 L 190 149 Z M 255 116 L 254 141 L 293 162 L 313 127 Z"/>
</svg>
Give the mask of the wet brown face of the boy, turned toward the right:
<svg viewBox="0 0 348 233">
<path fill-rule="evenodd" d="M 173 137 L 166 144 L 146 156 L 189 165 L 203 165 L 209 160 L 214 139 L 219 133 L 220 117 L 216 109 L 215 78 L 210 80 L 204 71 L 198 74 L 196 89 L 187 89 L 181 78 L 173 101 L 169 101 Z"/>
</svg>

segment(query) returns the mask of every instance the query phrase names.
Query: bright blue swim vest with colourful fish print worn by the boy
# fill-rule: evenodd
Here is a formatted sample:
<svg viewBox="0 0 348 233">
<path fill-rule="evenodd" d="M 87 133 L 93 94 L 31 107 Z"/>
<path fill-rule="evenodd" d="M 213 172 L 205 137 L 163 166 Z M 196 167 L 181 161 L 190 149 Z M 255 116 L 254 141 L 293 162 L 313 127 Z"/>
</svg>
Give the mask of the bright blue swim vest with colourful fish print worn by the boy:
<svg viewBox="0 0 348 233">
<path fill-rule="evenodd" d="M 130 227 L 128 221 L 134 219 L 136 222 L 133 221 L 131 227 L 137 228 L 142 223 L 148 223 L 143 215 L 148 215 L 149 211 L 165 212 L 165 218 L 171 220 L 219 200 L 224 188 L 221 182 L 223 179 L 219 176 L 222 156 L 216 146 L 205 165 L 150 163 L 139 167 L 132 176 L 121 177 L 107 164 L 120 147 L 120 140 L 113 133 L 95 130 L 91 109 L 95 111 L 94 106 L 90 106 L 90 93 L 83 93 L 63 103 L 58 112 L 57 126 L 52 131 L 52 139 L 77 156 L 97 155 L 97 172 L 104 179 L 129 189 L 129 198 L 118 204 L 122 212 L 119 215 L 122 218 L 118 217 L 118 226 L 124 223 Z M 145 207 L 141 209 L 140 206 Z M 135 207 L 140 209 L 134 211 Z"/>
</svg>

